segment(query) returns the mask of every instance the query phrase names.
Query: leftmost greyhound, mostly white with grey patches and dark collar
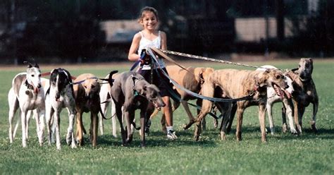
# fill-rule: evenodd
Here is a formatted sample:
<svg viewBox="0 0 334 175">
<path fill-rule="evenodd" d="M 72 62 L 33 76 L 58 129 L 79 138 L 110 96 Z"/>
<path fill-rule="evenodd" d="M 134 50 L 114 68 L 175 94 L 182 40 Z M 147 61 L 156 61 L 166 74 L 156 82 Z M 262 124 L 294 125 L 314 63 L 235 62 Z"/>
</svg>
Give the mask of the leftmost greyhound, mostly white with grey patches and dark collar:
<svg viewBox="0 0 334 175">
<path fill-rule="evenodd" d="M 41 71 L 39 66 L 28 63 L 26 73 L 18 73 L 12 81 L 11 90 L 8 92 L 9 104 L 9 139 L 13 143 L 13 117 L 18 107 L 20 107 L 20 116 L 22 123 L 22 145 L 27 147 L 27 118 L 30 116 L 30 110 L 35 110 L 37 136 L 39 145 L 42 145 L 44 130 L 45 98 L 44 90 L 41 85 Z M 38 115 L 37 115 L 38 114 Z"/>
</svg>

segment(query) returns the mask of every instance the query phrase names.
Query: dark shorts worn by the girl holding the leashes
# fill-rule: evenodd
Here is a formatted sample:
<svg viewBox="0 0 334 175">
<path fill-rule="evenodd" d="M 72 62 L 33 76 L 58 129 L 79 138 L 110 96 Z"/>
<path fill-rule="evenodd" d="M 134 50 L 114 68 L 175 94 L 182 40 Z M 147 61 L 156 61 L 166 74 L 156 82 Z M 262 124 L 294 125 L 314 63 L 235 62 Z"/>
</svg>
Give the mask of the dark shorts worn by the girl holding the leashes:
<svg viewBox="0 0 334 175">
<path fill-rule="evenodd" d="M 159 75 L 157 71 L 159 72 Z M 167 73 L 166 68 L 163 68 L 163 71 Z M 154 84 L 159 88 L 161 97 L 171 97 L 170 90 L 173 90 L 173 84 L 166 76 L 163 75 L 160 68 L 157 70 L 154 69 L 152 73 L 151 70 L 140 70 L 139 73 L 145 78 L 145 80 L 147 80 L 148 83 Z"/>
</svg>

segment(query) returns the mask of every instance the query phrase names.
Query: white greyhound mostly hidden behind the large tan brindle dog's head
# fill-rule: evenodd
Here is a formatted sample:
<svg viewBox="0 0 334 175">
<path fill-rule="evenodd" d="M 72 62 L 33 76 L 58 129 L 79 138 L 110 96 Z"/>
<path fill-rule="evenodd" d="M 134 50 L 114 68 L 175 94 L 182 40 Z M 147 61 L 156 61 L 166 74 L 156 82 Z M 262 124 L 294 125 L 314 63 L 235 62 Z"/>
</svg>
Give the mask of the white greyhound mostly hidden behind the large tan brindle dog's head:
<svg viewBox="0 0 334 175">
<path fill-rule="evenodd" d="M 266 71 L 266 68 L 273 68 L 273 69 L 278 69 L 275 66 L 270 66 L 270 65 L 265 65 L 261 66 L 260 68 L 256 68 L 256 71 Z M 288 78 L 285 76 L 285 82 L 289 86 L 285 91 L 287 91 L 287 94 L 292 94 L 294 91 L 293 86 L 292 86 L 292 80 L 291 78 Z M 293 117 L 292 117 L 292 102 L 289 102 L 290 97 L 280 97 L 276 94 L 275 90 L 273 87 L 267 87 L 267 104 L 266 104 L 266 109 L 268 112 L 268 119 L 269 119 L 269 126 L 271 130 L 271 135 L 275 134 L 275 126 L 273 123 L 273 112 L 272 112 L 272 107 L 273 104 L 276 102 L 283 102 L 283 107 L 285 107 L 286 114 L 287 114 L 287 119 L 289 119 L 289 126 L 290 126 L 290 131 L 291 133 L 297 134 L 297 130 L 295 128 L 295 125 L 293 123 Z M 285 121 L 283 121 L 283 131 L 285 132 L 287 130 L 287 126 Z"/>
</svg>

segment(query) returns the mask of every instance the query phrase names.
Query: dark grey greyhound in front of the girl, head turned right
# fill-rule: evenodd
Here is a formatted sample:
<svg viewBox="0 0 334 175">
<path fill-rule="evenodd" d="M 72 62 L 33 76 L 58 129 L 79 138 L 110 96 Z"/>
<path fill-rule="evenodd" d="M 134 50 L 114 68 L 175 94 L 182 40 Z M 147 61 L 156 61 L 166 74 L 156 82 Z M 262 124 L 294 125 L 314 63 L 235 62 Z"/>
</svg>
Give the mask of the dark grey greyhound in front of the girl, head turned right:
<svg viewBox="0 0 334 175">
<path fill-rule="evenodd" d="M 164 107 L 159 89 L 155 85 L 149 84 L 139 74 L 131 71 L 120 73 L 113 85 L 111 86 L 111 97 L 116 106 L 116 116 L 120 123 L 120 132 L 122 135 L 123 145 L 132 141 L 131 124 L 135 119 L 135 110 L 140 109 L 140 128 L 144 128 L 146 123 L 147 105 L 151 102 L 156 109 Z M 125 121 L 127 123 L 127 133 L 123 128 L 122 106 Z M 131 121 L 131 122 L 130 122 Z M 141 146 L 146 146 L 144 129 L 140 131 Z"/>
</svg>

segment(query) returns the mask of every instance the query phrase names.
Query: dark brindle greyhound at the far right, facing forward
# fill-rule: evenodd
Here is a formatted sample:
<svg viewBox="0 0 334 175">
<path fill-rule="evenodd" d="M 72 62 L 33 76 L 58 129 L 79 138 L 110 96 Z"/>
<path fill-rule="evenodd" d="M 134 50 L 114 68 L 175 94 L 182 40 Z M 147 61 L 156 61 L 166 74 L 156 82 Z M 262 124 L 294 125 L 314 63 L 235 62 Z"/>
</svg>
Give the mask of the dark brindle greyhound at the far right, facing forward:
<svg viewBox="0 0 334 175">
<path fill-rule="evenodd" d="M 294 116 L 295 123 L 299 133 L 302 133 L 302 116 L 305 108 L 310 103 L 313 104 L 313 116 L 311 119 L 311 128 L 314 132 L 316 129 L 316 112 L 318 111 L 318 95 L 316 94 L 316 85 L 312 80 L 313 60 L 300 59 L 299 68 L 288 71 L 287 76 L 293 80 L 292 99 L 295 105 Z"/>
</svg>

